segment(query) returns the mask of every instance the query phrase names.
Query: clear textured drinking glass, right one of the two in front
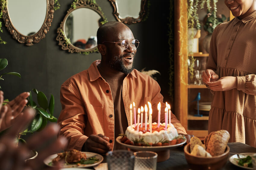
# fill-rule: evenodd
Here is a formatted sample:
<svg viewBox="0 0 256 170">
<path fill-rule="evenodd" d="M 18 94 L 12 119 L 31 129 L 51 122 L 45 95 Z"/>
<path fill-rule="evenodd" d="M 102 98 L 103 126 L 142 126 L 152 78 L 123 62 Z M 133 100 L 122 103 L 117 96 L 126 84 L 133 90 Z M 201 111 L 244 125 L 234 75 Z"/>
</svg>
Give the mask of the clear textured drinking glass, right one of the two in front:
<svg viewBox="0 0 256 170">
<path fill-rule="evenodd" d="M 157 153 L 151 151 L 134 152 L 134 170 L 156 170 Z"/>
</svg>

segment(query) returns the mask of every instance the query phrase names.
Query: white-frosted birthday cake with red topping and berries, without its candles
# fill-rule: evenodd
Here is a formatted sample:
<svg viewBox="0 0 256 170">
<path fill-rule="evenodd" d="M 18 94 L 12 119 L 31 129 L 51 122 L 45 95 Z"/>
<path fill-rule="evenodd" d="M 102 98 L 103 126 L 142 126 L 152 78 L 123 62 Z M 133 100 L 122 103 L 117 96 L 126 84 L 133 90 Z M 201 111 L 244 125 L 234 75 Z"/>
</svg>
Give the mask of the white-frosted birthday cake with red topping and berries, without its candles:
<svg viewBox="0 0 256 170">
<path fill-rule="evenodd" d="M 186 140 L 184 135 L 178 135 L 173 124 L 168 124 L 165 129 L 165 123 L 159 125 L 156 122 L 152 123 L 152 133 L 149 131 L 149 123 L 147 123 L 147 131 L 145 131 L 145 123 L 142 127 L 133 124 L 127 127 L 125 134 L 121 134 L 121 142 L 128 145 L 138 146 L 167 146 L 176 145 Z"/>
</svg>

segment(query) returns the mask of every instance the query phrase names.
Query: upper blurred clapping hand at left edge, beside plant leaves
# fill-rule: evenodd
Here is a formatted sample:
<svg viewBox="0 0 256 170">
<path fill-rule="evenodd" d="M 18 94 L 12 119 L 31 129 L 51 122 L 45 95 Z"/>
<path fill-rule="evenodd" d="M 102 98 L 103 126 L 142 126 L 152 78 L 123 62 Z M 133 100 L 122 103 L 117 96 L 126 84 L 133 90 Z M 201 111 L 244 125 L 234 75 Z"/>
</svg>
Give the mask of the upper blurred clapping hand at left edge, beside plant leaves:
<svg viewBox="0 0 256 170">
<path fill-rule="evenodd" d="M 10 103 L 2 106 L 4 100 L 3 94 L 4 93 L 0 91 L 0 132 L 10 127 L 14 123 L 15 118 L 23 115 L 22 110 L 27 104 L 26 98 L 30 95 L 29 92 L 23 92 Z"/>
</svg>

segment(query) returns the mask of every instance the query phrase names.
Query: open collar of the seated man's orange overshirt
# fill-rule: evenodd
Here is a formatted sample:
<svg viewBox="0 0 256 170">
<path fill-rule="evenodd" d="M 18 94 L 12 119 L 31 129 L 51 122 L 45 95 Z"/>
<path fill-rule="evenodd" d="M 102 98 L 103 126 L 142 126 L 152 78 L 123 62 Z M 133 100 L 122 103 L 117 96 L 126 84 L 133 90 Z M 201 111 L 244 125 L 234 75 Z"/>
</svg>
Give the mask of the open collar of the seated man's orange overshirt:
<svg viewBox="0 0 256 170">
<path fill-rule="evenodd" d="M 98 67 L 97 67 L 97 65 L 100 64 L 100 63 L 101 63 L 101 60 L 96 60 L 96 61 L 94 61 L 94 62 L 90 65 L 90 67 L 88 68 L 88 74 L 89 74 L 89 78 L 90 78 L 90 81 L 91 81 L 91 82 L 92 82 L 92 81 L 95 81 L 95 80 L 98 79 L 99 77 L 102 78 L 102 76 L 100 75 L 100 72 L 99 72 L 99 70 L 98 70 Z M 127 74 L 126 77 L 128 77 L 129 75 L 132 75 L 132 76 L 134 76 L 135 78 L 137 78 L 136 75 L 135 75 L 135 73 L 134 73 L 134 70 L 133 70 L 130 74 Z"/>
</svg>

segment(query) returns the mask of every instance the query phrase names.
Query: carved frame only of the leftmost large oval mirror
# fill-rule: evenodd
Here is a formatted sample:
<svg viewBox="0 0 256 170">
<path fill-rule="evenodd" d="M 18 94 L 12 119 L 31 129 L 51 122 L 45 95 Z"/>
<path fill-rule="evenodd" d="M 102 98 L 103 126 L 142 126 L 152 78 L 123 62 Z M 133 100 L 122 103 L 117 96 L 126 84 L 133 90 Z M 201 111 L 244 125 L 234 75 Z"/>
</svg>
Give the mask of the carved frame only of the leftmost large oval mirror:
<svg viewBox="0 0 256 170">
<path fill-rule="evenodd" d="M 7 27 L 7 30 L 11 33 L 12 37 L 15 40 L 18 40 L 19 43 L 26 43 L 26 46 L 33 46 L 33 43 L 38 43 L 41 39 L 45 37 L 45 34 L 49 31 L 49 28 L 52 23 L 53 19 L 53 13 L 54 13 L 54 0 L 46 0 L 47 2 L 47 11 L 46 11 L 46 16 L 45 16 L 45 21 L 40 28 L 40 30 L 31 36 L 26 36 L 21 34 L 19 31 L 14 28 L 11 18 L 9 16 L 8 12 L 8 5 L 2 10 L 3 11 L 3 16 L 2 19 L 5 22 L 5 26 Z M 1 6 L 2 9 L 2 6 Z"/>
</svg>

